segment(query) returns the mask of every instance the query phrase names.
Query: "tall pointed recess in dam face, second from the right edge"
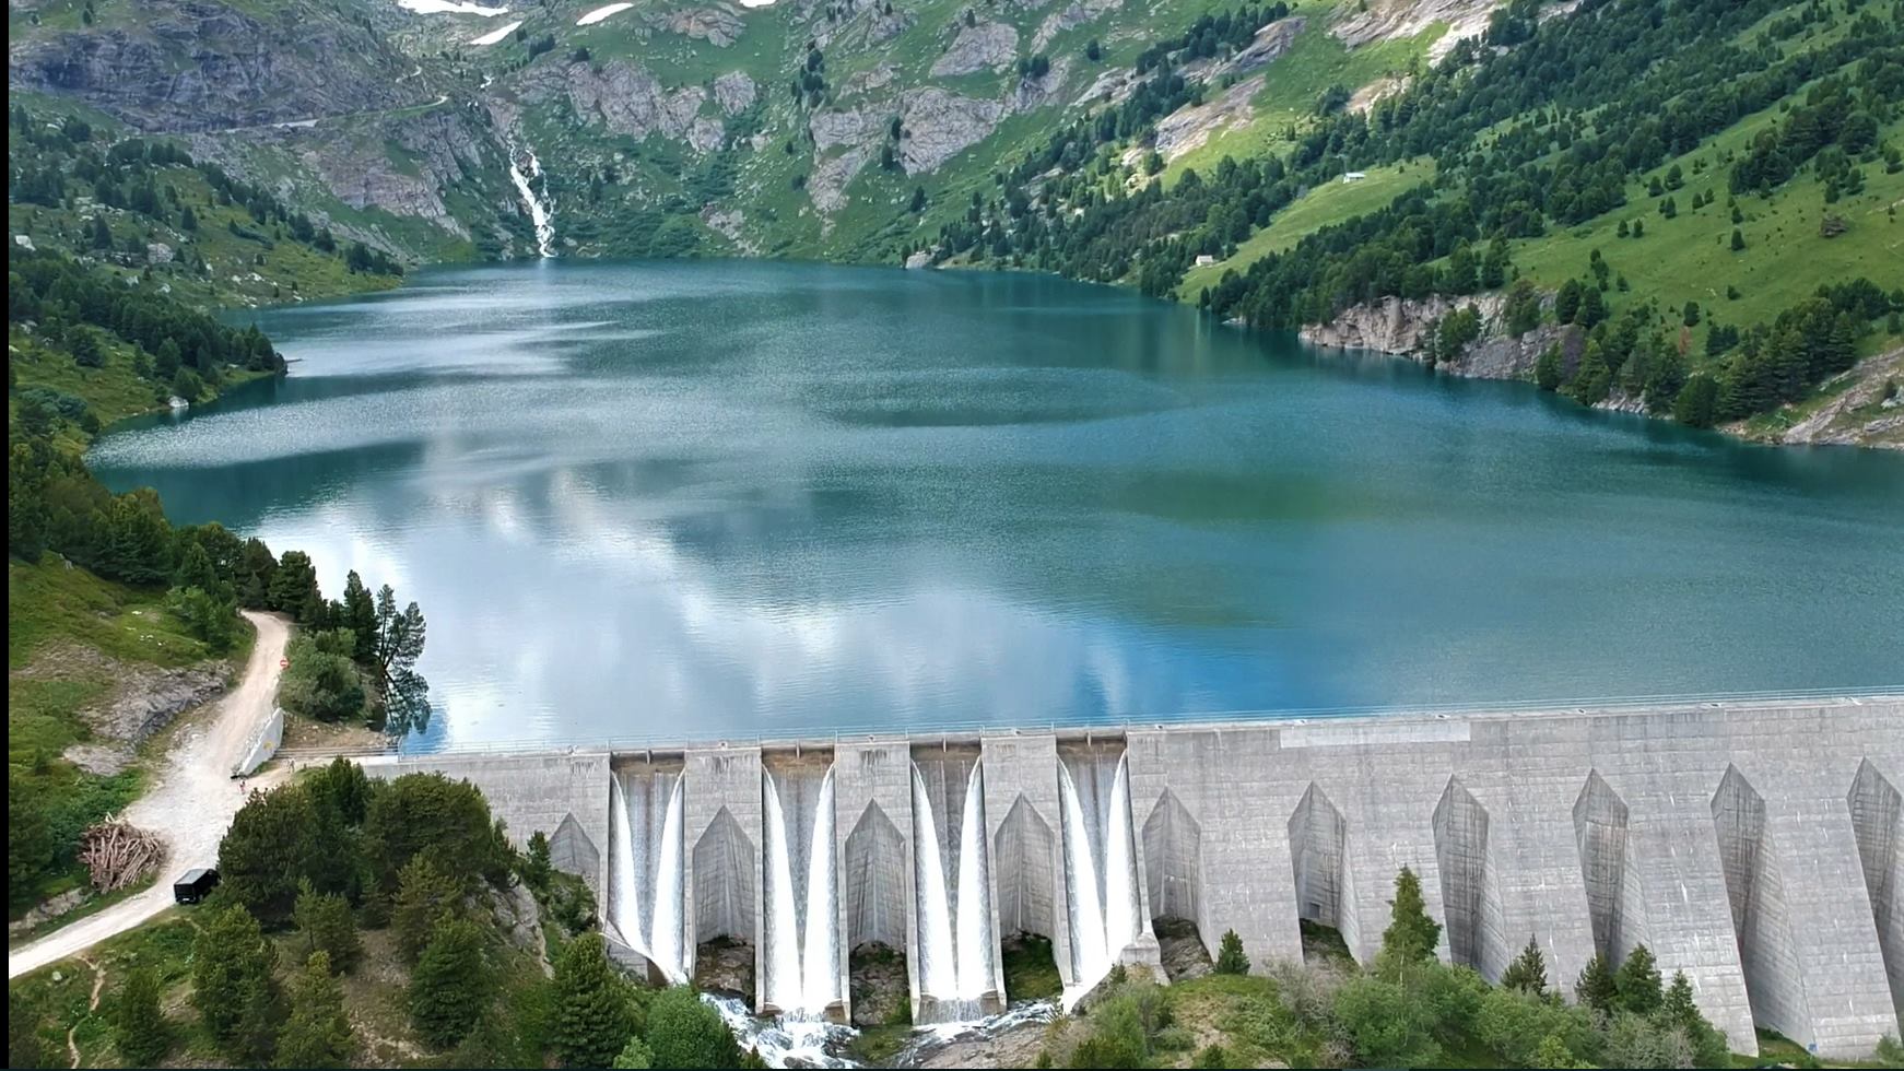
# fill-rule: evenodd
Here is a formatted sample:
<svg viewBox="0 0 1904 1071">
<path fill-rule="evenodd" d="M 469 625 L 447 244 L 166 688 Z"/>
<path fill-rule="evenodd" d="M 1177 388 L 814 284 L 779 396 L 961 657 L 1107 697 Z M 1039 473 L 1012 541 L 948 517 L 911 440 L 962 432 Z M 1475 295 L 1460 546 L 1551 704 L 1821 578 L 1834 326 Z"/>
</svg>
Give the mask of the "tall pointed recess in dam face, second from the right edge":
<svg viewBox="0 0 1904 1071">
<path fill-rule="evenodd" d="M 1805 993 L 1792 983 L 1792 926 L 1784 911 L 1784 873 L 1765 845 L 1765 797 L 1738 772 L 1725 767 L 1712 795 L 1712 824 L 1719 837 L 1725 894 L 1738 936 L 1738 961 L 1746 974 L 1752 1020 L 1799 1044 L 1813 1039 Z"/>
</svg>

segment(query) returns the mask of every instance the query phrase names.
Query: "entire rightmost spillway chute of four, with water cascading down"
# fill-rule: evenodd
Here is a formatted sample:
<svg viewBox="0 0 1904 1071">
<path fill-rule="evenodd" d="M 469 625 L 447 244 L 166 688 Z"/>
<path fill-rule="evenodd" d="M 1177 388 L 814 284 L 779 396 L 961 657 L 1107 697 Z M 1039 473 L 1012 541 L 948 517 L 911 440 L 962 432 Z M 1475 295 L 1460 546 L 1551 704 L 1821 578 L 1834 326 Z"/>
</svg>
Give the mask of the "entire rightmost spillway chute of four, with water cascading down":
<svg viewBox="0 0 1904 1071">
<path fill-rule="evenodd" d="M 1150 928 L 1137 890 L 1131 765 L 1123 748 L 1059 748 L 1064 896 L 1070 904 L 1072 983 L 1066 1006 L 1097 985 Z"/>
</svg>

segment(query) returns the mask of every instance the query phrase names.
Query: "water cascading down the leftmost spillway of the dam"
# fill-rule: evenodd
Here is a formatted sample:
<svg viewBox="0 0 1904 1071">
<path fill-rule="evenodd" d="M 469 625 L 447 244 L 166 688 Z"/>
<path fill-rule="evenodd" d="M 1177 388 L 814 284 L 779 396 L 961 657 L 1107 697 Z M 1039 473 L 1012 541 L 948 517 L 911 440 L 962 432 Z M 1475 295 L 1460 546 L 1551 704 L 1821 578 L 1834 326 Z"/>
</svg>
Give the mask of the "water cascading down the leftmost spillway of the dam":
<svg viewBox="0 0 1904 1071">
<path fill-rule="evenodd" d="M 607 926 L 661 980 L 687 980 L 680 765 L 609 776 Z"/>
</svg>

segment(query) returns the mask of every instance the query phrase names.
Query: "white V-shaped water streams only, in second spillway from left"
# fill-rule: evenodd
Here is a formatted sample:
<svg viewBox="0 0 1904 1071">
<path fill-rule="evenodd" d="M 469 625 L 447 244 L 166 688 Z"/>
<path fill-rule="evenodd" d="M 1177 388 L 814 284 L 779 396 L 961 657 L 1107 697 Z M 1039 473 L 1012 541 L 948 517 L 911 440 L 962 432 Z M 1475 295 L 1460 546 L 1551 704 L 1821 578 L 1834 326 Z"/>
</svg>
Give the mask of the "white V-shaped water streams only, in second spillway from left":
<svg viewBox="0 0 1904 1071">
<path fill-rule="evenodd" d="M 767 808 L 767 1003 L 788 1020 L 819 1018 L 840 999 L 834 934 L 838 894 L 834 886 L 834 782 L 821 778 L 807 841 L 805 911 L 794 890 L 792 826 L 781 784 L 765 774 Z"/>
</svg>

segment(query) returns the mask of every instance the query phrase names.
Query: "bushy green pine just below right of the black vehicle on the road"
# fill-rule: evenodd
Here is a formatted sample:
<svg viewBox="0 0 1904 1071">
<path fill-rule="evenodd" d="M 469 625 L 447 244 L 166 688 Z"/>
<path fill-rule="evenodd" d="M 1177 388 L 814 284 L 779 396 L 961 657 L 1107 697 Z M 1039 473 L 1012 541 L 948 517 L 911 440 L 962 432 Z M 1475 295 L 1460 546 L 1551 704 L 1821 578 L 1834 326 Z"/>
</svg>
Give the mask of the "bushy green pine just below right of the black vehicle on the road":
<svg viewBox="0 0 1904 1071">
<path fill-rule="evenodd" d="M 200 923 L 192 942 L 192 1004 L 206 1031 L 234 1058 L 263 1063 L 282 1018 L 278 949 L 242 905 Z"/>
</svg>

